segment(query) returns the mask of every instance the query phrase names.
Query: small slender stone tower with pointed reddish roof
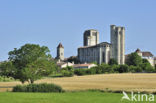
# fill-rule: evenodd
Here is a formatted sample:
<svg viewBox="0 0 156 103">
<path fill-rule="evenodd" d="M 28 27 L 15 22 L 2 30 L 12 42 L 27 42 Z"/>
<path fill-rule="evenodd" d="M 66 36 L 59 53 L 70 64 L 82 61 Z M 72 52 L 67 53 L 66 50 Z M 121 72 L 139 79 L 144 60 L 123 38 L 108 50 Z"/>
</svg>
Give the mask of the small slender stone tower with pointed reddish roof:
<svg viewBox="0 0 156 103">
<path fill-rule="evenodd" d="M 64 47 L 61 43 L 57 46 L 57 59 L 64 60 Z"/>
</svg>

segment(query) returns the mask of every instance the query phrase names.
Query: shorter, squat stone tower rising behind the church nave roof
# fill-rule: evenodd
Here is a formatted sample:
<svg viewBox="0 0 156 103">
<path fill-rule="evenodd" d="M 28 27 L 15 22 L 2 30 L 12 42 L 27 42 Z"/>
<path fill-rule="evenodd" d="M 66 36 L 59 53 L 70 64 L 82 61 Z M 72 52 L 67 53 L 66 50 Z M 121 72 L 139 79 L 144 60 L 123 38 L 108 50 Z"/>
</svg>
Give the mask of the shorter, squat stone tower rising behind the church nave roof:
<svg viewBox="0 0 156 103">
<path fill-rule="evenodd" d="M 92 46 L 99 43 L 99 32 L 97 30 L 86 30 L 83 37 L 84 46 Z"/>
</svg>

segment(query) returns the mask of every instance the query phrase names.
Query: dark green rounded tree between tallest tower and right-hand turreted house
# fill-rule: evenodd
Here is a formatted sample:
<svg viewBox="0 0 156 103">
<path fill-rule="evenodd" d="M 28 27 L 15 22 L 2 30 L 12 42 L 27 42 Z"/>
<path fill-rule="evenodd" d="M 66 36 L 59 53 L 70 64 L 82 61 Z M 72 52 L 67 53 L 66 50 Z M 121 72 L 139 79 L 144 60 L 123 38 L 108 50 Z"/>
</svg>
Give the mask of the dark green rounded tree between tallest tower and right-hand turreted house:
<svg viewBox="0 0 156 103">
<path fill-rule="evenodd" d="M 126 60 L 127 65 L 140 66 L 142 64 L 142 58 L 135 52 L 128 55 Z"/>
</svg>

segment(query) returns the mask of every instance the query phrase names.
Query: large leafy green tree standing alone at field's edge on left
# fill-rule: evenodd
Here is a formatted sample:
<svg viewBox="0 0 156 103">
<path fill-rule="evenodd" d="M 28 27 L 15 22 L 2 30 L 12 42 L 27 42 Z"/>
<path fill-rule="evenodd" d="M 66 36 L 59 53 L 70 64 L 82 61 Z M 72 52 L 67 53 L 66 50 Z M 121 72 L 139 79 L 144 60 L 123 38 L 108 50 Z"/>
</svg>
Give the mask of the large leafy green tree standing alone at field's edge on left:
<svg viewBox="0 0 156 103">
<path fill-rule="evenodd" d="M 22 83 L 33 83 L 42 76 L 49 75 L 54 69 L 54 63 L 50 59 L 48 47 L 35 44 L 25 44 L 9 52 L 9 60 L 15 67 L 13 78 Z"/>
</svg>

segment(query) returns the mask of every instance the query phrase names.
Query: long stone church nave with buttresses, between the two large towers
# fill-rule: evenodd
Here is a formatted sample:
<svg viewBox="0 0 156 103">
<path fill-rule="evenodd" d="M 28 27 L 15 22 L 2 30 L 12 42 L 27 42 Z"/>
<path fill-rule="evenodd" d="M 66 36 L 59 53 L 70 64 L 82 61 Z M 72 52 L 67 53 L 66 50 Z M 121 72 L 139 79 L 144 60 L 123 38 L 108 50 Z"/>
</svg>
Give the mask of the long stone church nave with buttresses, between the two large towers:
<svg viewBox="0 0 156 103">
<path fill-rule="evenodd" d="M 107 42 L 93 46 L 84 46 L 78 48 L 78 58 L 81 63 L 108 63 L 110 60 L 110 50 L 111 44 Z"/>
</svg>

